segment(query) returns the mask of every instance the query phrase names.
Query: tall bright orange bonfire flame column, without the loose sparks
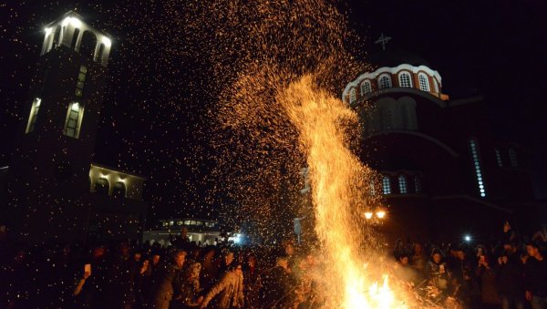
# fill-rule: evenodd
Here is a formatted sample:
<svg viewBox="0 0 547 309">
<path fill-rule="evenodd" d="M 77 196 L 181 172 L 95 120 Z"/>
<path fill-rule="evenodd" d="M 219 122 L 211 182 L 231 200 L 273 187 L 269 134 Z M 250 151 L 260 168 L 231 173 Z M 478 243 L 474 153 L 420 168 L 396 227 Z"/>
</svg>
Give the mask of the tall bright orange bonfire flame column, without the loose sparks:
<svg viewBox="0 0 547 309">
<path fill-rule="evenodd" d="M 357 218 L 363 207 L 362 180 L 372 172 L 346 145 L 344 124 L 356 120 L 356 114 L 340 99 L 316 88 L 309 76 L 281 91 L 278 100 L 299 130 L 310 170 L 315 232 L 327 255 L 325 277 L 333 289 L 325 306 L 404 307 L 404 301 L 390 288 L 387 274 L 367 270 L 366 255 L 359 250 L 363 238 L 372 237 Z"/>
</svg>

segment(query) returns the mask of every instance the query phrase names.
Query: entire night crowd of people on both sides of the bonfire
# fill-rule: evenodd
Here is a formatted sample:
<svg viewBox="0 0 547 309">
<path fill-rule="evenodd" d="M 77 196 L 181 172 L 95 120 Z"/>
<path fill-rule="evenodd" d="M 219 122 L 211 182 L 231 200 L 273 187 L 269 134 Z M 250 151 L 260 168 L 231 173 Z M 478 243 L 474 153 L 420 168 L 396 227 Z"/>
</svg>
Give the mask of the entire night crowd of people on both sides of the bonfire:
<svg viewBox="0 0 547 309">
<path fill-rule="evenodd" d="M 506 223 L 491 245 L 397 241 L 389 273 L 442 307 L 547 308 L 547 231 L 522 242 Z M 0 307 L 318 308 L 325 304 L 320 252 L 278 247 L 199 246 L 186 230 L 159 243 L 3 248 Z M 389 255 L 389 252 L 387 252 Z M 327 278 L 326 278 L 327 279 Z M 323 284 L 323 285 L 322 285 Z"/>
</svg>

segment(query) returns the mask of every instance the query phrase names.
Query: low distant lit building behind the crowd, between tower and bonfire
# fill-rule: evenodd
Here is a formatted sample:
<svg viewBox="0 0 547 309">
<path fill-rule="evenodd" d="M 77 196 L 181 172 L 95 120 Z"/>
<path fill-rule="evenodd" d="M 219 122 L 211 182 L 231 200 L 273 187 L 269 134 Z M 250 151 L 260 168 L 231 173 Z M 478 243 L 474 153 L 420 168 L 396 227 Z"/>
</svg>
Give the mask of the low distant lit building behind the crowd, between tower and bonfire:
<svg viewBox="0 0 547 309">
<path fill-rule="evenodd" d="M 170 245 L 170 241 L 174 237 L 181 235 L 182 229 L 187 229 L 188 238 L 196 244 L 216 244 L 221 239 L 217 221 L 196 218 L 170 218 L 160 220 L 152 230 L 143 232 L 142 241 Z"/>
</svg>

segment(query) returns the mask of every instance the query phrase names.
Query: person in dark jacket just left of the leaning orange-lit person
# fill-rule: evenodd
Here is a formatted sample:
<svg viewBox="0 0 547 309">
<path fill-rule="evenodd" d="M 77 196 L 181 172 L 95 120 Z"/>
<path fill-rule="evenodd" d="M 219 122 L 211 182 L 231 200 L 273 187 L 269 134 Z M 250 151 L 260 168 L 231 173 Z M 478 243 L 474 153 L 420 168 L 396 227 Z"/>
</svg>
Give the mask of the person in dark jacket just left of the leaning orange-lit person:
<svg viewBox="0 0 547 309">
<path fill-rule="evenodd" d="M 155 274 L 151 288 L 150 304 L 153 309 L 169 309 L 175 291 L 181 291 L 181 270 L 186 259 L 186 252 L 173 250 L 170 261 L 163 263 Z"/>
</svg>

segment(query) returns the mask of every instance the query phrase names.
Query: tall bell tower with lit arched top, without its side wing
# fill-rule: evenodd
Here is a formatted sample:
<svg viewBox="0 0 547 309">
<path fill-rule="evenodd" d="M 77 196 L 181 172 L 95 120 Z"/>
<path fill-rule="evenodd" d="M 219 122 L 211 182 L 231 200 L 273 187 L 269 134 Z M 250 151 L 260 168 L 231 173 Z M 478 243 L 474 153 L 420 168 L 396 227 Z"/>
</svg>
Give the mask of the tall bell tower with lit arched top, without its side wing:
<svg viewBox="0 0 547 309">
<path fill-rule="evenodd" d="M 6 183 L 13 237 L 83 237 L 89 166 L 107 80 L 111 38 L 68 12 L 44 29 L 26 116 Z"/>
</svg>

